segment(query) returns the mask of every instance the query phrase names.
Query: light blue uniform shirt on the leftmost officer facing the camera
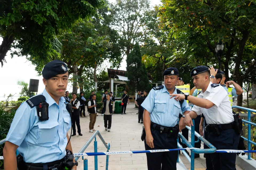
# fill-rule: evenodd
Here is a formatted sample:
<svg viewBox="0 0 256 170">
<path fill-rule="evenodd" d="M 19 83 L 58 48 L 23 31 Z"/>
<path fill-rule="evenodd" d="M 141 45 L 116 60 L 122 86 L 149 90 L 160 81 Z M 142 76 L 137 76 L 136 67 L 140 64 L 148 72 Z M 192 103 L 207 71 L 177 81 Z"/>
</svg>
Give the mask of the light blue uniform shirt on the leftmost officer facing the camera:
<svg viewBox="0 0 256 170">
<path fill-rule="evenodd" d="M 15 113 L 6 141 L 14 143 L 26 163 L 47 163 L 66 155 L 67 131 L 71 128 L 65 99 L 59 105 L 46 90 L 41 93 L 49 104 L 49 120 L 39 121 L 36 107 L 23 102 Z"/>
</svg>

